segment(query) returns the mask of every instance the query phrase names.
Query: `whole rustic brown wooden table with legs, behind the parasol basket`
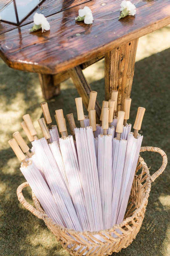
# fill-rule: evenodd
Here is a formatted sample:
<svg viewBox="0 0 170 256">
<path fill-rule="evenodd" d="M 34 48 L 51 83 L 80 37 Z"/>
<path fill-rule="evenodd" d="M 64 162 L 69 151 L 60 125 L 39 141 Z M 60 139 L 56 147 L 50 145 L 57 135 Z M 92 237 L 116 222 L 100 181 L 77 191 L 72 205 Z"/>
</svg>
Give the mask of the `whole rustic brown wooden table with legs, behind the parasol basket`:
<svg viewBox="0 0 170 256">
<path fill-rule="evenodd" d="M 118 20 L 121 2 L 46 0 L 35 12 L 47 17 L 50 31 L 29 33 L 35 12 L 20 27 L 1 22 L 1 57 L 11 68 L 39 73 L 46 99 L 58 93 L 60 82 L 71 76 L 86 108 L 91 88 L 82 69 L 104 57 L 105 99 L 118 90 L 117 110 L 121 110 L 124 98 L 131 94 L 138 38 L 170 24 L 170 0 L 132 0 L 136 15 Z M 74 20 L 84 6 L 92 10 L 92 25 Z M 97 102 L 96 113 L 100 116 Z"/>
</svg>

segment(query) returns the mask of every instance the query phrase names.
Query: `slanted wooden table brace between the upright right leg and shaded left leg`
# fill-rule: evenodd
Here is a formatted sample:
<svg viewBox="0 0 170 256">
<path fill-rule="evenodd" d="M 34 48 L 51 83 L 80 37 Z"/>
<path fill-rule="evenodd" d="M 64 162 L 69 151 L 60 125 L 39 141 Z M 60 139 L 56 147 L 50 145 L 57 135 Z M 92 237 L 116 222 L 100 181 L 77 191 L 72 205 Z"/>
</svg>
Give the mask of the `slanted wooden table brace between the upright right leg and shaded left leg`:
<svg viewBox="0 0 170 256">
<path fill-rule="evenodd" d="M 82 98 L 85 108 L 88 109 L 91 88 L 85 76 L 83 75 L 81 67 L 77 66 L 75 68 L 71 68 L 68 70 L 68 72 L 73 80 L 73 83 L 75 84 L 75 87 L 80 97 Z M 97 101 L 96 101 L 95 109 L 96 109 L 96 122 L 99 123 L 101 108 Z"/>
</svg>

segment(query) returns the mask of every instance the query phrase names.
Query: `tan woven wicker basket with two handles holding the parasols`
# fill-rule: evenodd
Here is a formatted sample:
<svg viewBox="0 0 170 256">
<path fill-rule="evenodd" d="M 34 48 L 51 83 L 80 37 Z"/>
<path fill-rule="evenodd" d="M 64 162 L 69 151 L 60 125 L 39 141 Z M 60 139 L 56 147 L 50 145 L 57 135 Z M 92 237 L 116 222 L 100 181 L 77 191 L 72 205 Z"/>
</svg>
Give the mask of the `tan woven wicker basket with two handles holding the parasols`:
<svg viewBox="0 0 170 256">
<path fill-rule="evenodd" d="M 130 245 L 138 234 L 145 216 L 151 183 L 165 170 L 167 164 L 166 154 L 160 148 L 142 147 L 140 151 L 158 152 L 163 157 L 162 166 L 151 176 L 143 158 L 139 156 L 124 221 L 110 229 L 100 230 L 98 232 L 77 232 L 57 225 L 51 218 L 47 217 L 33 192 L 32 199 L 36 209 L 25 200 L 22 194 L 22 189 L 29 186 L 28 182 L 25 182 L 18 187 L 18 200 L 27 210 L 32 212 L 39 219 L 44 220 L 46 226 L 53 232 L 54 236 L 57 237 L 57 241 L 59 241 L 62 247 L 71 255 L 84 254 L 86 256 L 98 256 L 119 252 L 122 248 L 126 248 Z M 141 168 L 142 170 L 140 171 Z M 121 231 L 121 235 L 119 234 L 120 232 L 117 233 L 117 228 Z M 96 238 L 94 235 L 99 236 Z M 103 238 L 104 242 L 99 240 L 100 237 Z"/>
</svg>

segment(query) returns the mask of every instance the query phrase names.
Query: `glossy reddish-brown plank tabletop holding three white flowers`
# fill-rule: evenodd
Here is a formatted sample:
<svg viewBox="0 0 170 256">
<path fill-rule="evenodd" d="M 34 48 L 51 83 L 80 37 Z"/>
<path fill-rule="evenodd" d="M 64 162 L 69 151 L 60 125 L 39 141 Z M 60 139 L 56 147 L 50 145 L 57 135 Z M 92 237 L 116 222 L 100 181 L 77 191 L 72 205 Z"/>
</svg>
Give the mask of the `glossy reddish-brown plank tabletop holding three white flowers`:
<svg viewBox="0 0 170 256">
<path fill-rule="evenodd" d="M 47 17 L 49 31 L 29 33 L 35 12 L 20 28 L 0 22 L 1 57 L 14 69 L 56 74 L 170 24 L 170 0 L 132 0 L 136 15 L 118 20 L 121 2 L 46 0 L 35 12 Z M 92 25 L 74 20 L 84 6 L 92 10 Z"/>
</svg>

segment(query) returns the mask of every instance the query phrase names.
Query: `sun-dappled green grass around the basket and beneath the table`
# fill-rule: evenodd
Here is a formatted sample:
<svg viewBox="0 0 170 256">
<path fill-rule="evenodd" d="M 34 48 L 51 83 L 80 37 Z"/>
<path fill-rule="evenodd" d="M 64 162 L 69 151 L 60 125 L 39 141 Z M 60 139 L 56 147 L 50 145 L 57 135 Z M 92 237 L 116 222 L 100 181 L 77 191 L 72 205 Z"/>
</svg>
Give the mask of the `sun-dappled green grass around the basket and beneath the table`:
<svg viewBox="0 0 170 256">
<path fill-rule="evenodd" d="M 163 38 L 163 39 L 161 39 Z M 137 62 L 133 80 L 130 122 L 134 124 L 138 106 L 146 108 L 142 134 L 143 146 L 162 148 L 170 155 L 170 27 L 160 29 L 139 40 Z M 101 104 L 104 99 L 103 61 L 87 68 L 85 74 L 93 90 L 98 92 Z M 39 137 L 42 136 L 37 119 L 42 116 L 40 103 L 44 101 L 37 74 L 8 68 L 0 61 L 1 85 L 1 256 L 66 256 L 69 255 L 57 243 L 44 222 L 28 212 L 16 195 L 18 185 L 25 181 L 19 171 L 19 163 L 7 141 L 15 131 L 21 132 L 28 143 L 20 122 L 29 113 Z M 64 115 L 73 112 L 76 117 L 74 98 L 78 93 L 71 80 L 62 83 L 61 94 L 48 101 L 54 122 L 54 111 L 63 108 Z M 30 143 L 28 143 L 29 146 Z M 158 154 L 141 153 L 151 173 L 161 165 Z M 145 218 L 132 244 L 113 256 L 168 256 L 170 255 L 170 168 L 152 183 Z M 24 190 L 28 202 L 32 202 L 31 189 Z"/>
</svg>

